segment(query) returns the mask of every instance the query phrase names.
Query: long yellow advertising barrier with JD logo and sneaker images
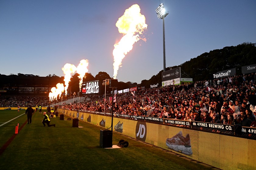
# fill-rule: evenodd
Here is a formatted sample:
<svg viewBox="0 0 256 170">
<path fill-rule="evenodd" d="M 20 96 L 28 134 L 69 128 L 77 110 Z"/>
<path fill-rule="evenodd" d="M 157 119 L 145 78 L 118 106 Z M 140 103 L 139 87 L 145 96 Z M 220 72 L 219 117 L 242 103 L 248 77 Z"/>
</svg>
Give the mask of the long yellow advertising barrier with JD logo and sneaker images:
<svg viewBox="0 0 256 170">
<path fill-rule="evenodd" d="M 106 129 L 111 127 L 111 113 L 88 111 L 78 113 L 71 110 L 64 112 L 64 109 L 58 109 L 58 111 L 65 116 L 78 117 L 80 121 Z M 113 131 L 171 150 L 196 161 L 224 170 L 256 169 L 256 140 L 245 136 L 252 128 L 243 127 L 245 129 L 243 136 L 233 135 L 230 128 L 232 129 L 230 125 L 122 114 L 116 114 L 113 118 Z M 182 144 L 181 140 L 187 143 Z"/>
</svg>

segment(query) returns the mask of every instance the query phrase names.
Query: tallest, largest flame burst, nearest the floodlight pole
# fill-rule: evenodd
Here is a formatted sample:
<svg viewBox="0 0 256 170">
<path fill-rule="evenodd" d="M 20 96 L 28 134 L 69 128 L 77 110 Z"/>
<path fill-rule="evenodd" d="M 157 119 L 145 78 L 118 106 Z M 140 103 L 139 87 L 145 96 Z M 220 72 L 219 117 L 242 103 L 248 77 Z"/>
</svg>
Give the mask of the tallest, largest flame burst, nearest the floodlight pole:
<svg viewBox="0 0 256 170">
<path fill-rule="evenodd" d="M 126 9 L 123 16 L 116 22 L 118 31 L 123 33 L 124 36 L 114 45 L 114 79 L 116 79 L 117 71 L 122 64 L 123 58 L 133 49 L 133 44 L 141 39 L 139 34 L 142 34 L 147 29 L 148 25 L 145 23 L 145 20 L 145 16 L 140 14 L 140 6 L 134 4 Z"/>
</svg>

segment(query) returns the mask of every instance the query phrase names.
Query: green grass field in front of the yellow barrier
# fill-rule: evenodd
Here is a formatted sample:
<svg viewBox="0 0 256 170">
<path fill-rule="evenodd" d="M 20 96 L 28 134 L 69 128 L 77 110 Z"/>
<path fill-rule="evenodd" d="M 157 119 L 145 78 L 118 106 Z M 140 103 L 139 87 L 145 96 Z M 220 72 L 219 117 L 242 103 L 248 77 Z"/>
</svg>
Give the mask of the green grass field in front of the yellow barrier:
<svg viewBox="0 0 256 170">
<path fill-rule="evenodd" d="M 0 110 L 0 125 L 23 113 L 25 110 L 20 113 Z M 56 127 L 43 127 L 43 114 L 37 112 L 31 124 L 27 124 L 24 114 L 1 126 L 0 147 L 14 138 L 0 155 L 0 169 L 213 169 L 116 132 L 113 132 L 113 144 L 124 139 L 129 146 L 100 148 L 102 127 L 82 121 L 79 121 L 82 128 L 72 127 L 72 120 L 66 118 L 64 121 L 59 117 L 51 118 L 51 124 Z M 14 135 L 18 123 L 19 127 L 24 126 Z"/>
</svg>

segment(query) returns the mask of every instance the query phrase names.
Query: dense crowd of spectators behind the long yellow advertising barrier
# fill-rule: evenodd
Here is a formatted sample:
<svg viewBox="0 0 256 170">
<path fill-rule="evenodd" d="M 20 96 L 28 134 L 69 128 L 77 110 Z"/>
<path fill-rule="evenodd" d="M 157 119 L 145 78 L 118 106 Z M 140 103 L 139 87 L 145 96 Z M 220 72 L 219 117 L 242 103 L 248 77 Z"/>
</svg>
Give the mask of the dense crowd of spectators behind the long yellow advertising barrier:
<svg viewBox="0 0 256 170">
<path fill-rule="evenodd" d="M 203 121 L 219 124 L 255 126 L 256 76 L 254 73 L 169 85 L 117 94 L 113 112 L 119 114 Z M 109 94 L 106 99 L 112 96 Z M 112 112 L 112 104 L 104 95 L 90 95 L 89 101 L 62 108 Z"/>
</svg>

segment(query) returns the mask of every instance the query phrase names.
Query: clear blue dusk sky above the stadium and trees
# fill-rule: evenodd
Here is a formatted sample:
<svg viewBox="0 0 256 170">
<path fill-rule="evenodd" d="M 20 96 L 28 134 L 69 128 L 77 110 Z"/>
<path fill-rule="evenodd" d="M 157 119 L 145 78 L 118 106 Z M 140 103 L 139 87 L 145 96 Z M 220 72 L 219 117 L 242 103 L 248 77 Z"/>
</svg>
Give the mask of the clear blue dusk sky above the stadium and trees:
<svg viewBox="0 0 256 170">
<path fill-rule="evenodd" d="M 88 73 L 113 77 L 113 49 L 123 34 L 116 22 L 134 4 L 147 30 L 127 53 L 116 79 L 141 83 L 163 70 L 164 3 L 166 67 L 214 49 L 256 42 L 255 0 L 0 0 L 0 74 L 64 76 L 66 63 L 89 60 Z M 193 78 L 193 77 L 192 77 Z"/>
</svg>

